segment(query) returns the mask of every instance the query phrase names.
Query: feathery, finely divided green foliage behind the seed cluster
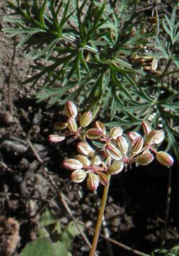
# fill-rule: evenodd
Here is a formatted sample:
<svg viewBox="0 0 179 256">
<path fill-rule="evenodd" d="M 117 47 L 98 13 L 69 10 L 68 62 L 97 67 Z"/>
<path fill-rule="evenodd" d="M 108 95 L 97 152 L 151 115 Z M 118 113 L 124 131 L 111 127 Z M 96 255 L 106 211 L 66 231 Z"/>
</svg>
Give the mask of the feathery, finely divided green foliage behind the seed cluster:
<svg viewBox="0 0 179 256">
<path fill-rule="evenodd" d="M 36 75 L 25 82 L 45 80 L 38 102 L 48 100 L 50 107 L 74 100 L 94 114 L 101 107 L 110 127 L 137 130 L 149 120 L 163 127 L 166 149 L 172 146 L 179 160 L 179 95 L 170 82 L 179 67 L 178 6 L 171 17 L 158 16 L 157 33 L 143 12 L 135 12 L 137 0 L 13 2 L 6 18 L 13 27 L 4 31 L 21 34 L 18 46 L 36 62 Z"/>
</svg>

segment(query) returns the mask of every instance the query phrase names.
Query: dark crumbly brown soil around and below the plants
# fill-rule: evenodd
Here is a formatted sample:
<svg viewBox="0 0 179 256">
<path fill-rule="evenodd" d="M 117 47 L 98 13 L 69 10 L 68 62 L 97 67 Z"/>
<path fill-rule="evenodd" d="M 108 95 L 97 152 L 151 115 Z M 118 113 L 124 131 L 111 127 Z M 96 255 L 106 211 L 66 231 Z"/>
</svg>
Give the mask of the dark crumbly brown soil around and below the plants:
<svg viewBox="0 0 179 256">
<path fill-rule="evenodd" d="M 5 1 L 1 1 L 1 28 L 5 26 L 1 20 L 6 13 L 4 4 Z M 55 209 L 64 226 L 71 220 L 62 201 L 52 199 L 57 195 L 52 181 L 59 189 L 69 182 L 69 171 L 62 168 L 62 159 L 75 148 L 70 142 L 54 145 L 47 141 L 62 110 L 57 105 L 47 109 L 45 102 L 36 102 L 35 94 L 40 85 L 21 85 L 33 72 L 29 68 L 32 61 L 21 49 L 17 49 L 11 74 L 11 101 L 25 136 L 30 139 L 43 163 L 37 161 L 9 110 L 8 79 L 13 41 L 2 32 L 0 48 L 0 255 L 18 255 L 30 240 L 36 238 L 40 215 L 45 209 Z M 168 169 L 156 162 L 146 168 L 131 169 L 112 177 L 105 211 L 110 238 L 149 254 L 161 247 L 167 188 Z M 96 223 L 102 192 L 102 187 L 97 193 L 92 193 L 85 184 L 74 183 L 63 191 L 74 218 L 92 228 Z M 178 164 L 175 164 L 166 248 L 179 243 L 178 196 L 179 174 Z M 85 233 L 92 240 L 91 230 L 86 229 Z M 105 240 L 100 238 L 99 255 L 109 255 L 106 246 Z M 116 245 L 112 245 L 112 250 L 114 255 L 132 255 L 132 252 Z M 74 240 L 72 255 L 88 255 L 88 248 L 81 237 Z"/>
</svg>

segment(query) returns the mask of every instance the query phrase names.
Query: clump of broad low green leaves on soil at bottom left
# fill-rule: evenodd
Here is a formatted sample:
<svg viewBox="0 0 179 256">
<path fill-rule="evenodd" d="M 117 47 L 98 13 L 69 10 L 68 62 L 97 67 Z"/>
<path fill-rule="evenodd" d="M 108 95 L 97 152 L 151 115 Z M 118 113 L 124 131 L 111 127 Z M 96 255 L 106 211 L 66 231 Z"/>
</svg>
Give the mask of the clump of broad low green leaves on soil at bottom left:
<svg viewBox="0 0 179 256">
<path fill-rule="evenodd" d="M 79 229 L 82 231 L 83 226 L 79 225 Z M 47 210 L 40 220 L 38 238 L 29 242 L 20 256 L 71 256 L 73 239 L 79 234 L 74 222 L 70 222 L 67 228 L 62 230 L 54 213 Z"/>
</svg>

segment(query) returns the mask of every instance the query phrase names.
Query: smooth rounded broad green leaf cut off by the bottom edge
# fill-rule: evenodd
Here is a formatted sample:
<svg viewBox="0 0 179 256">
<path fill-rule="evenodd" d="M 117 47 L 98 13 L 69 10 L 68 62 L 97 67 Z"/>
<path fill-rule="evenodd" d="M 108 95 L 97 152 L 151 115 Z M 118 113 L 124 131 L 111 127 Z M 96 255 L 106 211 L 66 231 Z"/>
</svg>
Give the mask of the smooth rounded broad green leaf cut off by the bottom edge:
<svg viewBox="0 0 179 256">
<path fill-rule="evenodd" d="M 56 256 L 55 248 L 47 238 L 37 238 L 28 242 L 20 256 Z"/>
</svg>

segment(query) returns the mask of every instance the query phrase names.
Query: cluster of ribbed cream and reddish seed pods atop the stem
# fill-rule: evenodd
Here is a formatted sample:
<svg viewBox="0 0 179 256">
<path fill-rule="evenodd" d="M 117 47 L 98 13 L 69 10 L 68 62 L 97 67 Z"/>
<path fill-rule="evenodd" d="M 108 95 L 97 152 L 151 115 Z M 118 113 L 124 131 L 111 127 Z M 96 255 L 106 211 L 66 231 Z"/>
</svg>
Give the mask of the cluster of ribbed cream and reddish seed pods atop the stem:
<svg viewBox="0 0 179 256">
<path fill-rule="evenodd" d="M 99 183 L 108 186 L 108 176 L 120 173 L 133 163 L 148 165 L 154 160 L 154 156 L 160 164 L 172 166 L 173 158 L 165 151 L 158 151 L 157 147 L 164 139 L 162 129 L 151 129 L 147 122 L 142 122 L 144 137 L 137 132 L 123 134 L 121 127 L 112 127 L 108 132 L 105 124 L 96 121 L 92 128 L 86 130 L 92 121 L 92 113 L 85 112 L 79 115 L 79 126 L 76 105 L 67 102 L 64 112 L 68 117 L 67 122 L 55 124 L 57 129 L 67 129 L 64 134 L 50 135 L 51 142 L 60 142 L 69 135 L 79 138 L 76 144 L 79 154 L 76 159 L 65 159 L 63 166 L 72 171 L 72 181 L 79 183 L 87 177 L 87 186 L 92 191 L 98 188 Z M 83 135 L 83 139 L 82 136 Z M 96 151 L 89 142 L 97 140 L 101 149 Z"/>
</svg>

